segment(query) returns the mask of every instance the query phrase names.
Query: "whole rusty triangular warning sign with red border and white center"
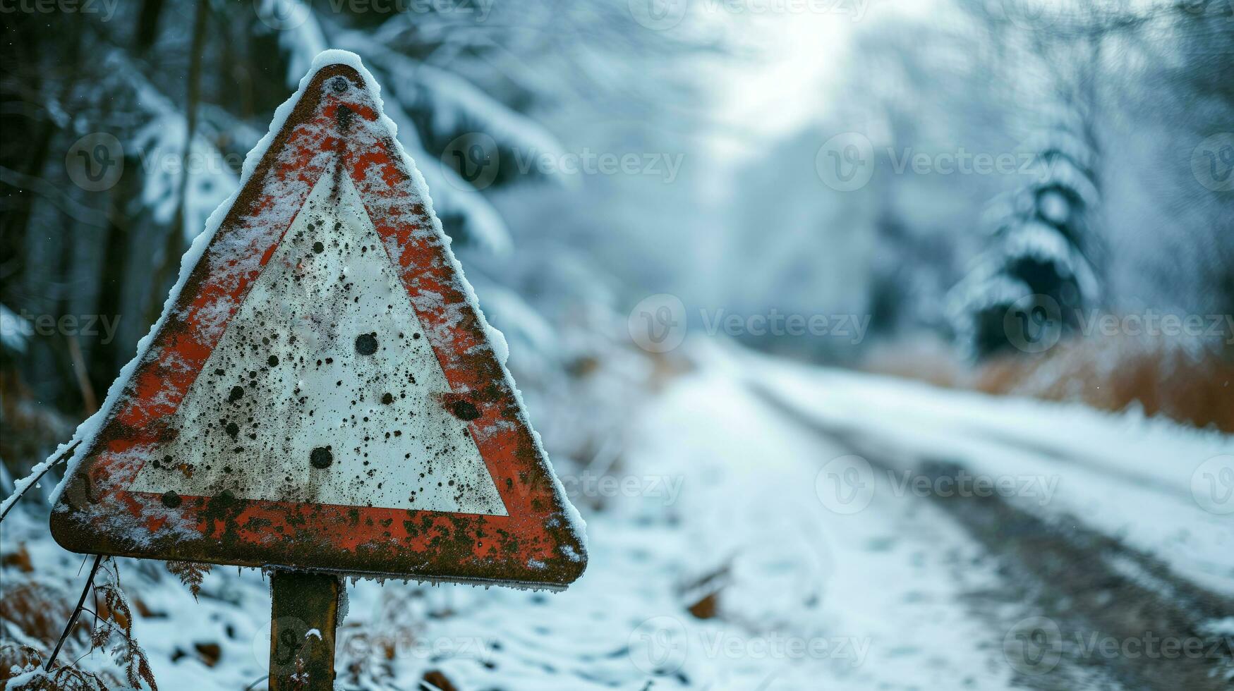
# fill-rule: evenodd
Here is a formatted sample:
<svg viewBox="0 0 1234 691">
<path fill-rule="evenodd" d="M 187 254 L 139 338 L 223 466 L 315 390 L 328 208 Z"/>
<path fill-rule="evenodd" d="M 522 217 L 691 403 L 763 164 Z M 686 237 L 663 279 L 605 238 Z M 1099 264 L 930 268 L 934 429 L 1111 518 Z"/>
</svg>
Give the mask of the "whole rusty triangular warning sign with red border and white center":
<svg viewBox="0 0 1234 691">
<path fill-rule="evenodd" d="M 56 539 L 246 566 L 575 580 L 581 521 L 371 75 L 349 53 L 318 57 L 249 155 L 79 431 Z"/>
</svg>

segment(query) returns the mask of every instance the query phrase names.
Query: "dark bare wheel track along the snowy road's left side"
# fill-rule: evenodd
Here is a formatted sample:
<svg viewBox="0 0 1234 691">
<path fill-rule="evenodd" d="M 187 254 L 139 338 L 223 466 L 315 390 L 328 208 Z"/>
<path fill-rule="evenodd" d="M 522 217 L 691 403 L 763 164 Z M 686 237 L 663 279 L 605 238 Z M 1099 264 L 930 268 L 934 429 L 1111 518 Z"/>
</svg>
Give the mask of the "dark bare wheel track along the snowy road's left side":
<svg viewBox="0 0 1234 691">
<path fill-rule="evenodd" d="M 887 438 L 823 423 L 768 387 L 752 389 L 786 418 L 884 470 L 907 466 L 926 478 L 954 480 L 965 468 L 963 459 L 921 457 Z M 1001 632 L 995 642 L 1004 644 L 1008 635 L 1021 633 L 1017 623 L 1030 617 L 1046 617 L 1043 622 L 1048 627 L 1056 624 L 1039 643 L 1056 649 L 1058 664 L 1019 665 L 1016 684 L 1043 691 L 1229 689 L 1234 642 L 1207 633 L 1203 624 L 1234 612 L 1230 598 L 1178 577 L 1161 559 L 1090 529 L 1071 516 L 1039 516 L 997 494 L 928 496 L 927 501 L 1003 565 L 1004 587 L 974 592 L 969 600 L 974 613 Z M 1203 654 L 1167 659 L 1164 654 L 1108 655 L 1101 649 L 1107 639 L 1123 647 L 1127 642 L 1151 642 L 1150 635 L 1203 642 Z"/>
</svg>

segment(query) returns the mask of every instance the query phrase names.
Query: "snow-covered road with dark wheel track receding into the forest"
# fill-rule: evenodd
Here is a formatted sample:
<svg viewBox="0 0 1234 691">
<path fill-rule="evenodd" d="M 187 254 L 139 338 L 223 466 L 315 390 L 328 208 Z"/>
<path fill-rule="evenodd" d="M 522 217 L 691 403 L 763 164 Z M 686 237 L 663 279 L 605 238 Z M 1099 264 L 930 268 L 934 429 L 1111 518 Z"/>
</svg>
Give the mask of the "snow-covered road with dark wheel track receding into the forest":
<svg viewBox="0 0 1234 691">
<path fill-rule="evenodd" d="M 1230 437 L 764 359 L 742 371 L 760 399 L 851 454 L 828 461 L 849 473 L 842 489 L 872 479 L 875 497 L 887 487 L 940 507 L 995 560 L 996 587 L 955 603 L 987 622 L 1013 685 L 1234 681 Z"/>
</svg>

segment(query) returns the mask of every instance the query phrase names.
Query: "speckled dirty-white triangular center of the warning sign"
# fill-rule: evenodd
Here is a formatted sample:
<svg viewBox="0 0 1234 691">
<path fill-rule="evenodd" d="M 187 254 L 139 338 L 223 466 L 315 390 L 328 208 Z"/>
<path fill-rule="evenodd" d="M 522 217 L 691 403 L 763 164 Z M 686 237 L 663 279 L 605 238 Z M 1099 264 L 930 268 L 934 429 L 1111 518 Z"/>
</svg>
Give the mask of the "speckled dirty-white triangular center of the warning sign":
<svg viewBox="0 0 1234 691">
<path fill-rule="evenodd" d="M 505 516 L 348 176 L 322 175 L 130 490 Z"/>
</svg>

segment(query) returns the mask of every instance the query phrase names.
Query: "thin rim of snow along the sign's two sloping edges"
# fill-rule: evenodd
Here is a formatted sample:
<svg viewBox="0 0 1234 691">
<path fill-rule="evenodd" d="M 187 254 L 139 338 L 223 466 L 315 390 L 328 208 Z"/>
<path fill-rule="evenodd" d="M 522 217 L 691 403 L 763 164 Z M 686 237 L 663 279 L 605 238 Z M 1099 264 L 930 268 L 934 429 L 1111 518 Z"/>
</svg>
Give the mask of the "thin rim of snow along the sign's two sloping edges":
<svg viewBox="0 0 1234 691">
<path fill-rule="evenodd" d="M 163 328 L 163 325 L 167 322 L 169 315 L 175 308 L 176 300 L 189 280 L 189 274 L 197 265 L 199 260 L 201 259 L 202 254 L 206 250 L 206 247 L 209 247 L 210 242 L 217 233 L 218 227 L 222 225 L 223 218 L 227 216 L 232 205 L 238 199 L 241 191 L 246 188 L 246 185 L 248 185 L 251 178 L 253 176 L 253 173 L 257 169 L 258 163 L 265 155 L 267 151 L 274 142 L 275 136 L 283 130 L 288 117 L 291 116 L 295 105 L 300 101 L 300 99 L 307 90 L 308 85 L 312 83 L 313 77 L 321 69 L 338 64 L 350 67 L 363 79 L 364 89 L 368 91 L 369 96 L 373 100 L 374 110 L 379 114 L 379 120 L 376 126 L 383 127 L 390 132 L 391 138 L 395 142 L 397 154 L 402 157 L 404 165 L 411 173 L 412 188 L 415 189 L 416 195 L 420 197 L 420 201 L 423 204 L 426 209 L 426 216 L 432 220 L 432 232 L 436 233 L 442 239 L 445 259 L 449 262 L 450 267 L 454 269 L 454 271 L 457 271 L 460 279 L 468 305 L 475 312 L 476 317 L 480 321 L 480 325 L 485 329 L 485 333 L 487 333 L 489 338 L 492 341 L 492 349 L 499 362 L 501 363 L 502 375 L 505 376 L 506 385 L 512 391 L 520 410 L 526 410 L 522 400 L 522 394 L 515 386 L 513 378 L 510 376 L 508 370 L 506 370 L 505 368 L 505 357 L 507 353 L 507 347 L 505 346 L 505 338 L 496 328 L 489 325 L 487 320 L 484 316 L 484 311 L 480 310 L 480 304 L 475 296 L 475 291 L 471 290 L 470 284 L 466 281 L 463 267 L 458 263 L 458 259 L 454 258 L 453 252 L 450 252 L 449 249 L 450 244 L 449 236 L 447 236 L 442 230 L 441 221 L 438 220 L 437 213 L 433 210 L 433 202 L 432 199 L 429 197 L 428 186 L 424 183 L 424 178 L 420 173 L 420 169 L 416 168 L 416 164 L 412 160 L 412 158 L 407 155 L 402 146 L 397 143 L 397 130 L 399 130 L 397 125 L 395 125 L 395 122 L 384 114 L 384 107 L 383 107 L 384 104 L 381 100 L 380 86 L 378 85 L 373 75 L 369 73 L 369 70 L 364 68 L 364 64 L 360 62 L 359 56 L 348 51 L 329 49 L 317 54 L 308 72 L 300 80 L 300 85 L 296 89 L 296 93 L 292 94 L 286 101 L 283 102 L 283 105 L 280 105 L 275 110 L 274 117 L 270 121 L 269 131 L 265 133 L 264 137 L 262 137 L 262 139 L 257 143 L 257 146 L 254 146 L 253 149 L 248 152 L 248 155 L 244 158 L 244 164 L 241 169 L 239 185 L 226 201 L 223 201 L 221 205 L 218 205 L 217 209 L 215 209 L 213 213 L 211 213 L 209 220 L 206 221 L 205 232 L 197 234 L 197 237 L 193 241 L 193 244 L 189 247 L 188 252 L 184 253 L 184 257 L 180 259 L 179 278 L 176 279 L 175 285 L 168 292 L 168 297 L 163 304 L 162 315 L 159 316 L 158 321 L 154 322 L 154 325 L 151 327 L 149 332 L 144 337 L 142 337 L 142 339 L 137 343 L 136 355 L 133 357 L 132 360 L 128 362 L 128 364 L 126 364 L 121 369 L 120 375 L 116 378 L 115 381 L 112 381 L 111 386 L 107 389 L 107 396 L 102 406 L 100 406 L 97 412 L 95 412 L 93 416 L 81 422 L 81 424 L 78 426 L 77 432 L 73 434 L 73 438 L 65 442 L 64 444 L 60 444 L 56 449 L 56 452 L 48 458 L 47 463 L 51 463 L 52 459 L 63 455 L 74 443 L 80 442 L 75 452 L 68 458 L 67 461 L 68 466 L 65 468 L 64 471 L 65 479 L 68 479 L 74 474 L 80 460 L 91 450 L 94 441 L 97 437 L 104 421 L 111 416 L 112 411 L 116 410 L 116 405 L 121 401 L 121 399 L 123 399 L 125 389 L 128 381 L 132 379 L 133 373 L 137 370 L 138 364 L 141 364 L 148 355 L 149 347 L 154 339 L 154 334 Z M 274 205 L 274 207 L 275 209 L 268 211 L 268 213 L 285 215 L 288 212 L 286 209 L 278 209 L 279 205 Z M 291 210 L 292 213 L 295 213 L 295 211 L 299 210 Z M 260 226 L 262 223 L 252 223 L 249 227 L 253 228 L 253 232 L 263 232 L 264 228 L 262 228 Z M 237 253 L 251 252 L 248 243 L 244 242 L 233 242 L 230 244 L 228 248 L 225 249 L 232 249 Z M 222 317 L 222 315 L 220 315 L 220 317 Z M 221 326 L 221 320 L 220 320 L 220 326 Z M 536 444 L 537 454 L 540 458 L 548 458 L 548 454 L 544 452 L 543 444 L 540 442 L 539 434 L 536 433 L 534 429 L 532 431 L 532 439 L 533 443 Z M 574 533 L 579 543 L 585 548 L 586 524 L 584 523 L 582 517 L 579 515 L 578 510 L 575 510 L 574 506 L 571 506 L 570 502 L 565 499 L 566 496 L 565 489 L 561 486 L 560 480 L 558 480 L 557 475 L 549 473 L 548 476 L 552 479 L 557 496 L 561 497 L 563 500 L 561 501 L 563 512 L 565 515 L 565 519 L 569 523 L 570 531 Z M 64 490 L 65 485 L 67 482 L 62 480 L 60 484 L 52 492 L 49 499 L 53 505 L 59 500 L 60 492 Z M 565 557 L 574 560 L 581 559 L 581 555 L 578 554 L 565 554 Z"/>
</svg>

